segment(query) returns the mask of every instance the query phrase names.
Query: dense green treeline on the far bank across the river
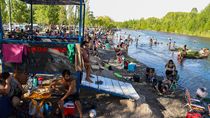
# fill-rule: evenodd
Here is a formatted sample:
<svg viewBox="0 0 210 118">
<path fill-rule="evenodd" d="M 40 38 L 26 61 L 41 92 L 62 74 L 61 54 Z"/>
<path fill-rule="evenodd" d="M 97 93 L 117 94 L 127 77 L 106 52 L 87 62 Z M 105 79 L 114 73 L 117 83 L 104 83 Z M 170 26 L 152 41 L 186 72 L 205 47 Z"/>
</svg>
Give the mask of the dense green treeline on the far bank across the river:
<svg viewBox="0 0 210 118">
<path fill-rule="evenodd" d="M 156 30 L 210 37 L 210 4 L 198 13 L 196 8 L 191 12 L 169 12 L 163 18 L 129 20 L 118 22 L 119 28 L 135 30 Z"/>
</svg>

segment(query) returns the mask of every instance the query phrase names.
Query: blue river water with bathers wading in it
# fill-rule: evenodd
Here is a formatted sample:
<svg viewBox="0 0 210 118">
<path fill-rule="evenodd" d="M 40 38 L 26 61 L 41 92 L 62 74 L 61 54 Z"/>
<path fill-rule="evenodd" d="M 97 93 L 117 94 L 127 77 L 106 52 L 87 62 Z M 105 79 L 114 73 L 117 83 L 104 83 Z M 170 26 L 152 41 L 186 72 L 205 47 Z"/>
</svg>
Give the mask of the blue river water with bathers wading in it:
<svg viewBox="0 0 210 118">
<path fill-rule="evenodd" d="M 179 64 L 177 62 L 177 52 L 169 51 L 167 46 L 168 38 L 171 38 L 172 42 L 175 41 L 178 47 L 183 47 L 186 44 L 192 50 L 199 50 L 204 47 L 210 49 L 210 39 L 155 31 L 121 30 L 116 34 L 118 36 L 130 34 L 133 38 L 141 35 L 139 45 L 136 46 L 134 40 L 129 47 L 128 54 L 131 57 L 155 68 L 157 75 L 161 76 L 165 76 L 165 64 L 169 59 L 172 59 L 180 75 L 179 84 L 181 86 L 188 88 L 192 94 L 198 87 L 206 87 L 210 95 L 210 57 L 208 59 L 186 59 L 182 64 Z M 150 37 L 154 37 L 163 44 L 150 46 Z"/>
</svg>

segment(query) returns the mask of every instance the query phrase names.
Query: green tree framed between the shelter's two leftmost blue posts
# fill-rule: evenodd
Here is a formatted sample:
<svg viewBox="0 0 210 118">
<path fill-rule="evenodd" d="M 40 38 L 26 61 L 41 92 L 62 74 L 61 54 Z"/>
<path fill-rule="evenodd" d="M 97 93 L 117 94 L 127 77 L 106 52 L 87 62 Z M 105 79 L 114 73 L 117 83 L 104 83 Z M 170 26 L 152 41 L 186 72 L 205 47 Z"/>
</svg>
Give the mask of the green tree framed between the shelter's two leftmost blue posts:
<svg viewBox="0 0 210 118">
<path fill-rule="evenodd" d="M 29 23 L 29 9 L 26 3 L 12 0 L 12 21 L 15 23 Z"/>
</svg>

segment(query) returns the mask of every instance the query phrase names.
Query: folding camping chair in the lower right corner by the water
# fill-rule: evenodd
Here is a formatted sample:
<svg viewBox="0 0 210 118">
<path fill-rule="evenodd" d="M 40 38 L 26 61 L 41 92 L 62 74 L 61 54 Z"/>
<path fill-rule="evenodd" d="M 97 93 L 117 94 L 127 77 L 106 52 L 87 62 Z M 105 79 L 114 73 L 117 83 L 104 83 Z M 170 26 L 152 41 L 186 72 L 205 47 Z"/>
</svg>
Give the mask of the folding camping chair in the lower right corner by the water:
<svg viewBox="0 0 210 118">
<path fill-rule="evenodd" d="M 198 99 L 191 98 L 190 92 L 188 89 L 185 91 L 185 96 L 187 99 L 187 104 L 185 106 L 188 106 L 190 111 L 205 111 L 205 107 L 203 106 L 202 102 Z"/>
</svg>

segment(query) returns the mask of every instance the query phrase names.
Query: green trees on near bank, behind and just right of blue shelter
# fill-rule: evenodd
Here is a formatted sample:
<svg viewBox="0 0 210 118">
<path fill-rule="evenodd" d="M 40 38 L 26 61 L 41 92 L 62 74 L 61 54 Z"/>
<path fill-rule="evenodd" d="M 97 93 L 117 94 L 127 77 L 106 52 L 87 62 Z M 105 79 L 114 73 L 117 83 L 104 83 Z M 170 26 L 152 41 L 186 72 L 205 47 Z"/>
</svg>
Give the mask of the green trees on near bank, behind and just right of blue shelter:
<svg viewBox="0 0 210 118">
<path fill-rule="evenodd" d="M 89 10 L 89 0 L 86 2 L 85 24 L 88 27 L 115 27 L 113 20 L 109 17 L 95 18 L 93 12 Z M 9 0 L 0 0 L 2 21 L 9 23 Z M 11 0 L 12 23 L 30 23 L 30 5 L 20 1 Z M 40 25 L 78 25 L 79 6 L 58 6 L 58 5 L 34 5 L 33 6 L 34 23 Z"/>
</svg>

